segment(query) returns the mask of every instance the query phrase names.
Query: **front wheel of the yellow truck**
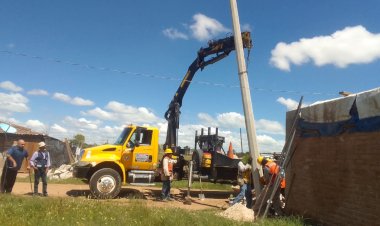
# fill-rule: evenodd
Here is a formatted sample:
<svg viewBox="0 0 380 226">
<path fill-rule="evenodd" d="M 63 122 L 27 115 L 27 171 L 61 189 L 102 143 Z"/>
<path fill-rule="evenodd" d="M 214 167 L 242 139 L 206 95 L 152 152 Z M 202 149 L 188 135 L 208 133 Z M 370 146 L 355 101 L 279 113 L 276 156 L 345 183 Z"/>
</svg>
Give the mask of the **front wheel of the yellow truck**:
<svg viewBox="0 0 380 226">
<path fill-rule="evenodd" d="M 99 199 L 113 199 L 121 189 L 121 177 L 111 168 L 96 171 L 90 179 L 90 190 Z"/>
</svg>

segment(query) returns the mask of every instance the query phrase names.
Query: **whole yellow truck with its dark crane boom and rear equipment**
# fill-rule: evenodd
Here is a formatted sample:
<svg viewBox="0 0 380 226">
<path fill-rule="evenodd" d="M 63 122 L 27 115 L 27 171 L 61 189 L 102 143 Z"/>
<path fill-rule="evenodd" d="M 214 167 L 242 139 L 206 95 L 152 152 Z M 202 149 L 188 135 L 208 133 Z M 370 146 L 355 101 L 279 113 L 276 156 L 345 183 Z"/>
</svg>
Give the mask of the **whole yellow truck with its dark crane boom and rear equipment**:
<svg viewBox="0 0 380 226">
<path fill-rule="evenodd" d="M 242 41 L 244 48 L 249 50 L 252 48 L 250 32 L 242 32 Z M 178 169 L 178 175 L 183 175 L 183 166 L 187 164 L 183 158 L 183 149 L 177 144 L 183 97 L 199 69 L 203 70 L 206 66 L 227 57 L 233 50 L 235 50 L 233 36 L 209 41 L 208 47 L 198 50 L 196 59 L 189 66 L 165 112 L 168 129 L 163 149 L 171 148 L 175 156 L 178 156 L 175 166 L 175 169 Z M 74 166 L 73 176 L 88 180 L 91 193 L 97 198 L 114 198 L 119 194 L 122 184 L 152 184 L 157 176 L 155 171 L 159 162 L 158 137 L 157 128 L 127 126 L 115 144 L 85 149 L 81 161 Z M 214 135 L 209 134 L 207 137 L 207 139 L 211 139 L 211 143 L 215 140 Z M 200 147 L 205 147 L 206 141 L 200 139 L 200 142 Z M 211 172 L 214 172 L 213 178 L 216 181 L 216 173 L 223 176 L 222 174 L 228 171 L 226 168 L 236 169 L 237 164 L 236 161 L 217 153 L 222 145 L 220 142 L 213 145 L 210 145 L 210 142 L 206 142 L 207 153 L 197 151 L 193 155 L 193 161 L 196 171 L 206 174 L 206 176 L 210 176 Z M 201 163 L 205 162 L 203 161 L 204 156 L 207 157 L 208 162 L 204 167 L 205 170 L 202 171 Z M 232 177 L 236 178 L 236 175 Z"/>
</svg>

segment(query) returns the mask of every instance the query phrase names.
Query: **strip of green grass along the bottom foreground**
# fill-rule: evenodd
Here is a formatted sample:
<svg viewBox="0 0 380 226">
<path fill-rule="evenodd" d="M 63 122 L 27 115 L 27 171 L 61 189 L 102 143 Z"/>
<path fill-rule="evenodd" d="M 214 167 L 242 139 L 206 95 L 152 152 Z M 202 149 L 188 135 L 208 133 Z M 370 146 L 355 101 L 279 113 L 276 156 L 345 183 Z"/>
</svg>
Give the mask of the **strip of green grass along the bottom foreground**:
<svg viewBox="0 0 380 226">
<path fill-rule="evenodd" d="M 154 208 L 139 200 L 42 198 L 0 195 L 0 225 L 252 225 L 216 211 Z M 259 220 L 254 225 L 302 225 L 298 218 Z"/>
</svg>

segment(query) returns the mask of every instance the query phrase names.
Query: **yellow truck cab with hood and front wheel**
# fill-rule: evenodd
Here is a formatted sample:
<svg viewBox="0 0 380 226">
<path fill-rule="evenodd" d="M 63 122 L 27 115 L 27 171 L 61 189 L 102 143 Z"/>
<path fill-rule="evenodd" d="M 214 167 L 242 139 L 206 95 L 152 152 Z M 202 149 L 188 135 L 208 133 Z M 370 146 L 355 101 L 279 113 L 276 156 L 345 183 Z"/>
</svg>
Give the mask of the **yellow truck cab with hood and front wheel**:
<svg viewBox="0 0 380 226">
<path fill-rule="evenodd" d="M 73 176 L 87 180 L 97 198 L 114 198 L 121 186 L 151 185 L 158 166 L 159 131 L 130 125 L 114 144 L 86 148 Z"/>
</svg>

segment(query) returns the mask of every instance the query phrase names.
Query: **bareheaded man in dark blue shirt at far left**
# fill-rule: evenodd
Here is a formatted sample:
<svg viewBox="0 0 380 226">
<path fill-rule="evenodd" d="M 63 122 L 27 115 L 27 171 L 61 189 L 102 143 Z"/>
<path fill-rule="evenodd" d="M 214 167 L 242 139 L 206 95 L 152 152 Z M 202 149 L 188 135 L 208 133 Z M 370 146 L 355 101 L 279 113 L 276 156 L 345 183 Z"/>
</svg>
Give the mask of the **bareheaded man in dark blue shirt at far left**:
<svg viewBox="0 0 380 226">
<path fill-rule="evenodd" d="M 11 193 L 16 181 L 17 173 L 21 168 L 22 161 L 28 158 L 28 152 L 24 149 L 25 141 L 19 139 L 17 146 L 11 147 L 7 153 L 7 160 L 3 168 L 3 174 L 1 177 L 0 192 Z M 28 162 L 28 161 L 27 161 Z M 29 164 L 28 164 L 29 170 Z"/>
</svg>

